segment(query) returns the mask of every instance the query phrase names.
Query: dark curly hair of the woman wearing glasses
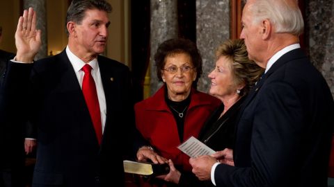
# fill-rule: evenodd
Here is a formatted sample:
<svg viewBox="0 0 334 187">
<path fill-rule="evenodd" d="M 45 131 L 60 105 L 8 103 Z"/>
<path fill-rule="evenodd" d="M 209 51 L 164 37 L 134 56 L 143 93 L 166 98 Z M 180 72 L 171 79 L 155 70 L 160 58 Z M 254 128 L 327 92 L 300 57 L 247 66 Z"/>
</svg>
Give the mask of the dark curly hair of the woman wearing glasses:
<svg viewBox="0 0 334 187">
<path fill-rule="evenodd" d="M 189 39 L 182 38 L 168 39 L 159 45 L 157 53 L 154 55 L 158 79 L 162 81 L 161 71 L 164 69 L 166 57 L 176 53 L 186 53 L 191 57 L 191 63 L 197 72 L 196 80 L 194 81 L 196 83 L 202 74 L 202 57 L 195 43 Z"/>
</svg>

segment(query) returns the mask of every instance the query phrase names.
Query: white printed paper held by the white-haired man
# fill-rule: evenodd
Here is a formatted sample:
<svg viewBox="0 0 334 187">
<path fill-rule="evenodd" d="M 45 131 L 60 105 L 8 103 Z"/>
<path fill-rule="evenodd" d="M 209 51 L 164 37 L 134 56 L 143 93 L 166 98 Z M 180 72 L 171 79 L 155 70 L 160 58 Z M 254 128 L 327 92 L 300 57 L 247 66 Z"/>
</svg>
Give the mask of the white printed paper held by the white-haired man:
<svg viewBox="0 0 334 187">
<path fill-rule="evenodd" d="M 187 141 L 177 146 L 179 150 L 184 152 L 189 157 L 197 157 L 201 155 L 214 154 L 215 151 L 207 147 L 204 143 L 191 136 Z"/>
</svg>

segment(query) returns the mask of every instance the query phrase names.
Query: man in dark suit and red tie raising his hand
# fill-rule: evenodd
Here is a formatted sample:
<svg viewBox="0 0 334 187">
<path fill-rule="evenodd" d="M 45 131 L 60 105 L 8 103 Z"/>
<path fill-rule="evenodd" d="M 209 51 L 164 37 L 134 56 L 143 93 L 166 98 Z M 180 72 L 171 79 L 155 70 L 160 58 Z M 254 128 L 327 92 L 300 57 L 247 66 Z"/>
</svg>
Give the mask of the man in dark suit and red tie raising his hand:
<svg viewBox="0 0 334 187">
<path fill-rule="evenodd" d="M 33 186 L 123 186 L 122 154 L 133 127 L 131 82 L 127 66 L 99 55 L 109 12 L 104 0 L 73 0 L 67 47 L 36 62 L 36 14 L 29 8 L 19 18 L 0 118 L 10 124 L 29 118 L 38 127 Z"/>
</svg>

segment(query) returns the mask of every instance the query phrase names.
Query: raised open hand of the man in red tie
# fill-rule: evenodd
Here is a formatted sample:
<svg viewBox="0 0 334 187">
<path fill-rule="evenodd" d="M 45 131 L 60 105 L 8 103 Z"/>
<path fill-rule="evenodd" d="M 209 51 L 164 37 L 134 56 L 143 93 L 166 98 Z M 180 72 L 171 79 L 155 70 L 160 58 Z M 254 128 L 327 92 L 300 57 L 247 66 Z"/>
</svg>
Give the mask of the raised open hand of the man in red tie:
<svg viewBox="0 0 334 187">
<path fill-rule="evenodd" d="M 40 30 L 36 30 L 36 13 L 33 8 L 24 10 L 19 17 L 15 33 L 15 45 L 17 48 L 16 59 L 19 62 L 33 62 L 33 57 L 41 46 Z"/>
</svg>

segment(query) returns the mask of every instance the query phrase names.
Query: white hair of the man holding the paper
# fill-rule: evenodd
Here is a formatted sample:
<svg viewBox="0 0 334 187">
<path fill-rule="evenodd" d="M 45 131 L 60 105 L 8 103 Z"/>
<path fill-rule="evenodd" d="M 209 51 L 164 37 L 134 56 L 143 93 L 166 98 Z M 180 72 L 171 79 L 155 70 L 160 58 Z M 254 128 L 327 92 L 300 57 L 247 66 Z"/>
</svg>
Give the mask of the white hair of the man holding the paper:
<svg viewBox="0 0 334 187">
<path fill-rule="evenodd" d="M 249 6 L 253 13 L 253 23 L 269 19 L 276 33 L 291 33 L 299 36 L 303 33 L 304 21 L 298 0 L 256 0 Z"/>
</svg>

